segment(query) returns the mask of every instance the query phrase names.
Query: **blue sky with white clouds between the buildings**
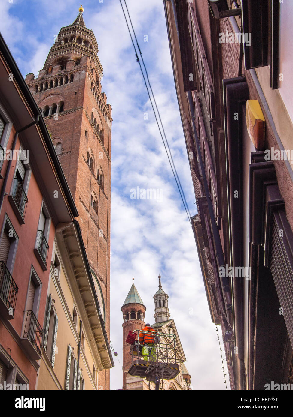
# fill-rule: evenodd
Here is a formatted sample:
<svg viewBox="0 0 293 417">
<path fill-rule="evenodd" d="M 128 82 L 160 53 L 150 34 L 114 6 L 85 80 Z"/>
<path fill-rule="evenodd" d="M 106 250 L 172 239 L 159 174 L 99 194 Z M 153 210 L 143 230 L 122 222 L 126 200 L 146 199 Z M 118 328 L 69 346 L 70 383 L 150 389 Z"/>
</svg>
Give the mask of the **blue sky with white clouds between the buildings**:
<svg viewBox="0 0 293 417">
<path fill-rule="evenodd" d="M 37 75 L 61 26 L 71 24 L 78 15 L 79 3 L 0 0 L 0 4 L 1 32 L 13 57 L 24 76 Z M 85 24 L 94 31 L 99 45 L 99 60 L 104 68 L 102 91 L 112 106 L 113 118 L 111 342 L 118 357 L 114 357 L 115 367 L 110 372 L 111 389 L 122 387 L 120 307 L 132 285 L 132 276 L 147 307 L 145 319 L 153 323 L 153 295 L 158 289 L 159 271 L 193 389 L 226 389 L 194 236 L 155 123 L 120 2 L 86 0 L 82 5 Z M 195 197 L 174 87 L 163 0 L 127 0 L 127 6 L 193 216 Z M 130 198 L 130 190 L 137 187 L 158 189 L 158 199 Z"/>
</svg>

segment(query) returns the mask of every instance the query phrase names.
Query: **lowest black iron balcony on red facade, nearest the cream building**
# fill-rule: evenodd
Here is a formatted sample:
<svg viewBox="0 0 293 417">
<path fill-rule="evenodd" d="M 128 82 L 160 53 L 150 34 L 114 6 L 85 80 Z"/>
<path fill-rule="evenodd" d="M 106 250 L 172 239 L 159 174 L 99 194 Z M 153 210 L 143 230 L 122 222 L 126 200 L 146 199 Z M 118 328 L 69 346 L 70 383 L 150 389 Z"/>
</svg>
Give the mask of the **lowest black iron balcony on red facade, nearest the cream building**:
<svg viewBox="0 0 293 417">
<path fill-rule="evenodd" d="M 43 339 L 43 329 L 38 322 L 35 314 L 31 310 L 24 311 L 24 332 L 20 338 L 21 344 L 31 359 L 41 359 L 41 343 Z"/>
</svg>

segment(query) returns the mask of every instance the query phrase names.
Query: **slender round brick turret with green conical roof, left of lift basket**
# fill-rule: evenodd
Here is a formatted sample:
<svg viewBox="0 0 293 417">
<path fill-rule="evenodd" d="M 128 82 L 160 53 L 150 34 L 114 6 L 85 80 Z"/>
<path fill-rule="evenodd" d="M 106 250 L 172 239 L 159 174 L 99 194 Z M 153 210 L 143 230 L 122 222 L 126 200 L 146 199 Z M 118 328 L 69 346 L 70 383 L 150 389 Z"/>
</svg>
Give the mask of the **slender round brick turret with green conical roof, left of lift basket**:
<svg viewBox="0 0 293 417">
<path fill-rule="evenodd" d="M 133 279 L 133 278 L 132 278 Z M 138 290 L 135 285 L 132 284 L 130 291 L 121 307 L 123 314 L 123 387 L 127 390 L 142 390 L 148 389 L 148 384 L 140 377 L 133 377 L 127 373 L 131 366 L 130 344 L 126 343 L 128 333 L 136 329 L 143 329 L 145 327 L 145 310 L 146 307 L 143 304 Z"/>
</svg>

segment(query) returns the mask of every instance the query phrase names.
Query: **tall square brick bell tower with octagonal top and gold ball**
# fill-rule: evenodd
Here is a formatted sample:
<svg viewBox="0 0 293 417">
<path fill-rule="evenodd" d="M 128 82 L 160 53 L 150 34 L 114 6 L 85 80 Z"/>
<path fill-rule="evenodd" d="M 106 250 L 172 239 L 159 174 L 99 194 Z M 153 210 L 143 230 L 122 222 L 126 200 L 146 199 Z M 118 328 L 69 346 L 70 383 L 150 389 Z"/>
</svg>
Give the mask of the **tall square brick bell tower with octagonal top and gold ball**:
<svg viewBox="0 0 293 417">
<path fill-rule="evenodd" d="M 43 113 L 79 212 L 79 224 L 110 337 L 111 106 L 102 93 L 103 68 L 84 9 L 61 28 L 38 77 L 25 77 Z M 110 389 L 109 370 L 99 385 Z"/>
</svg>

